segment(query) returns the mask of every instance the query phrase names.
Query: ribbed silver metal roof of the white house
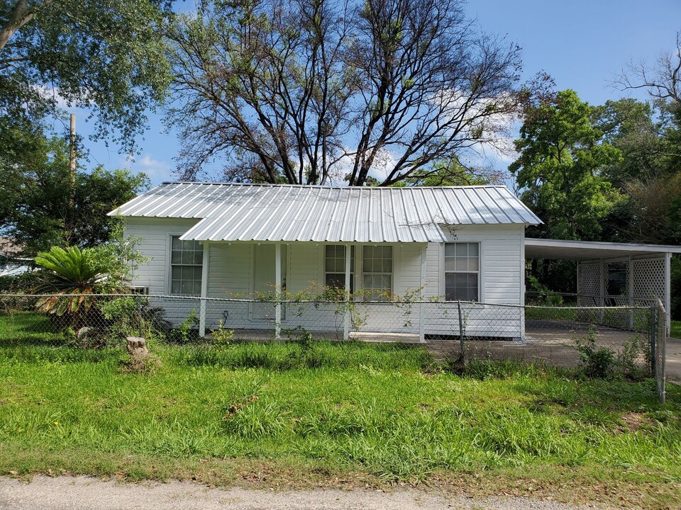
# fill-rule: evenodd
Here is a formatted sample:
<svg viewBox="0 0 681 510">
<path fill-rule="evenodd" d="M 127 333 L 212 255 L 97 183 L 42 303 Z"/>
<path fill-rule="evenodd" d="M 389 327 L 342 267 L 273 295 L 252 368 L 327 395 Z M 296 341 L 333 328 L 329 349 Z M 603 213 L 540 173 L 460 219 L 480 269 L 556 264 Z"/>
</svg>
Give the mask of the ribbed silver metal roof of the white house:
<svg viewBox="0 0 681 510">
<path fill-rule="evenodd" d="M 443 242 L 440 225 L 538 225 L 505 186 L 165 182 L 109 215 L 200 218 L 198 241 Z"/>
</svg>

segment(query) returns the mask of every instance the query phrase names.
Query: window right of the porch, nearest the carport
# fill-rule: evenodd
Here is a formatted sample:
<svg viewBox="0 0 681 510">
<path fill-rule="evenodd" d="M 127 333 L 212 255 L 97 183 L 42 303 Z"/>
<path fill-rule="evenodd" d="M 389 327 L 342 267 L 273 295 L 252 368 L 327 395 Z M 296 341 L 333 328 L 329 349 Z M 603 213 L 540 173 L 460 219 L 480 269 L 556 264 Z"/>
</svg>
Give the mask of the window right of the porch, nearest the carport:
<svg viewBox="0 0 681 510">
<path fill-rule="evenodd" d="M 445 244 L 445 300 L 478 301 L 480 244 Z"/>
</svg>

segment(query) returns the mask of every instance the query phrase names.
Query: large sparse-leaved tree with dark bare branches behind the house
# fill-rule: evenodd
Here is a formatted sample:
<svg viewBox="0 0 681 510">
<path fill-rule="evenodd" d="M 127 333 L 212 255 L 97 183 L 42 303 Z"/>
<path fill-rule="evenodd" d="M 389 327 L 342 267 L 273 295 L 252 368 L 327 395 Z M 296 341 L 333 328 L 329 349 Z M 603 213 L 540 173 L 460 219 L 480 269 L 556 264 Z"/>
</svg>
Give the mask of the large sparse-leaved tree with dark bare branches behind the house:
<svg viewBox="0 0 681 510">
<path fill-rule="evenodd" d="M 207 2 L 170 33 L 182 177 L 388 186 L 494 144 L 516 113 L 519 48 L 461 0 Z"/>
</svg>

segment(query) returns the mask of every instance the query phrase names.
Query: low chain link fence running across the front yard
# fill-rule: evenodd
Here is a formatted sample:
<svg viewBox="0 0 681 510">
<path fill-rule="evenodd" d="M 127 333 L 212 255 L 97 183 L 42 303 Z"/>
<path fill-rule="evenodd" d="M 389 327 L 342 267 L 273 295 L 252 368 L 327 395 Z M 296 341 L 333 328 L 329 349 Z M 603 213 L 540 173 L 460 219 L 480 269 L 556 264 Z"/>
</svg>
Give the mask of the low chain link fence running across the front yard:
<svg viewBox="0 0 681 510">
<path fill-rule="evenodd" d="M 160 295 L 0 295 L 0 341 L 101 347 L 356 339 L 425 344 L 442 361 L 518 360 L 665 380 L 665 310 L 452 301 L 276 301 Z"/>
</svg>

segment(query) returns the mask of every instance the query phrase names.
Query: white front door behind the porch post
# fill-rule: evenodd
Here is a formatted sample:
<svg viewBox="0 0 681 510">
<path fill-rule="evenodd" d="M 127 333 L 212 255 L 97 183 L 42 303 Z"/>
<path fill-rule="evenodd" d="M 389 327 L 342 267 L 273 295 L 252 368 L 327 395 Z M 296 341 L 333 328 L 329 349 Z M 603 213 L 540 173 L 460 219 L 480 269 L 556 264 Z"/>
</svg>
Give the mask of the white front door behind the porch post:
<svg viewBox="0 0 681 510">
<path fill-rule="evenodd" d="M 272 298 L 277 293 L 275 245 L 256 244 L 253 253 L 253 291 L 256 299 L 260 296 Z M 286 246 L 282 245 L 282 290 L 286 288 Z M 253 303 L 253 320 L 274 321 L 275 303 L 265 300 Z M 282 306 L 282 320 L 286 318 L 286 307 Z"/>
</svg>

